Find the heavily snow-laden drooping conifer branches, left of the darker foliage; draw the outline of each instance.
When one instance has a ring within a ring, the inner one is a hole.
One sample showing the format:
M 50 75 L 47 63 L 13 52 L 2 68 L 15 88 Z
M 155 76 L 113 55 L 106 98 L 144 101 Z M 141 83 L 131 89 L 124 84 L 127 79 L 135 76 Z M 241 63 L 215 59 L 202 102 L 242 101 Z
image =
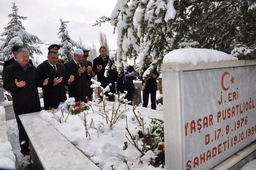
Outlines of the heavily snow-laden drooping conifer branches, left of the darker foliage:
M 138 54 L 141 54 L 141 76 L 147 56 L 153 55 L 155 58 L 144 73 L 144 78 L 162 64 L 170 48 L 170 20 L 174 19 L 175 14 L 173 0 L 118 0 L 111 14 L 111 24 L 118 32 L 116 66 L 119 72 L 128 65 L 127 57 L 136 60 Z M 147 46 L 140 51 L 142 42 L 146 42 Z

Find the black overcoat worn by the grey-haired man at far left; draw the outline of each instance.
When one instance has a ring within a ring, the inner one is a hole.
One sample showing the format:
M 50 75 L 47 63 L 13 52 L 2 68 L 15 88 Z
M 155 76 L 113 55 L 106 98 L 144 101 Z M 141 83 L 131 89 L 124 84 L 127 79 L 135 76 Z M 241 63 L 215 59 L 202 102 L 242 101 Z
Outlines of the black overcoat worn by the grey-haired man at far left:
M 24 87 L 17 87 L 15 79 L 26 82 Z M 28 64 L 27 70 L 14 62 L 6 67 L 4 72 L 4 89 L 12 95 L 14 113 L 16 115 L 39 112 L 41 110 L 37 87 L 42 87 L 44 80 L 40 80 L 34 66 Z

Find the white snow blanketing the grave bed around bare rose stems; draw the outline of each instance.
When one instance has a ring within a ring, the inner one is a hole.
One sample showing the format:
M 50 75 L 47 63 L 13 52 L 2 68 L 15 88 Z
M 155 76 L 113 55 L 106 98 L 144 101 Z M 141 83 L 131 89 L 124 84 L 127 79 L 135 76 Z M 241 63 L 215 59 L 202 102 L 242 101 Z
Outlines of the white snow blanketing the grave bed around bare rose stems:
M 128 165 L 131 170 L 155 170 L 160 168 L 155 168 L 154 166 L 149 165 L 150 158 L 156 158 L 156 155 L 159 153 L 158 149 L 155 150 L 156 154 L 149 150 L 145 153 L 144 156 L 140 157 L 141 154 L 136 150 L 132 144 L 128 142 L 128 148 L 123 150 L 124 142 L 127 142 L 125 134 L 126 131 L 126 118 L 128 128 L 132 134 L 138 134 L 139 127 L 138 122 L 135 119 L 132 110 L 128 110 L 128 106 L 121 106 L 122 117 L 110 128 L 110 123 L 106 124 L 106 119 L 99 114 L 99 107 L 96 106 L 96 103 L 90 102 L 92 104 L 92 109 L 84 111 L 86 114 L 87 124 L 92 123 L 93 128 L 89 128 L 90 138 L 85 137 L 85 128 L 83 124 L 84 113 L 78 115 L 70 114 L 67 118 L 67 121 L 64 122 L 68 113 L 64 112 L 64 119 L 62 118 L 62 123 L 58 120 L 62 116 L 60 111 L 54 113 L 41 111 L 40 116 L 45 119 L 47 122 L 52 124 L 56 130 L 58 130 L 65 138 L 72 142 L 76 147 L 78 147 L 82 152 L 90 157 L 90 159 L 102 170 L 111 170 L 111 165 L 114 165 L 114 168 L 117 170 L 126 170 L 127 166 L 123 163 L 124 158 L 128 161 Z M 117 108 L 118 103 L 115 107 Z M 110 109 L 108 113 L 111 115 L 112 105 L 107 102 L 106 110 Z M 111 117 L 111 116 L 110 116 Z M 100 123 L 104 123 L 104 126 Z M 145 129 L 150 128 L 151 119 L 144 117 L 144 122 L 146 122 Z M 127 134 L 128 135 L 128 134 Z M 128 137 L 130 138 L 130 137 Z M 142 144 L 141 140 L 138 140 L 139 145 Z M 139 164 L 140 159 L 143 161 L 143 164 Z

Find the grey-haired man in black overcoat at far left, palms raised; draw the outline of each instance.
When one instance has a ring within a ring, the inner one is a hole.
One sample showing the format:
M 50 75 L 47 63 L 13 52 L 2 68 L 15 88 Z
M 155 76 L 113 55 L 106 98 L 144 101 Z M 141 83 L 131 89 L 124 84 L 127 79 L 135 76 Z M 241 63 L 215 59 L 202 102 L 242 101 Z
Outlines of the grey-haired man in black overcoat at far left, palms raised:
M 11 92 L 19 130 L 20 152 L 26 156 L 29 155 L 28 136 L 18 115 L 41 111 L 37 87 L 46 86 L 48 78 L 39 79 L 36 68 L 28 63 L 28 50 L 20 48 L 17 53 L 17 61 L 6 67 L 3 87 Z

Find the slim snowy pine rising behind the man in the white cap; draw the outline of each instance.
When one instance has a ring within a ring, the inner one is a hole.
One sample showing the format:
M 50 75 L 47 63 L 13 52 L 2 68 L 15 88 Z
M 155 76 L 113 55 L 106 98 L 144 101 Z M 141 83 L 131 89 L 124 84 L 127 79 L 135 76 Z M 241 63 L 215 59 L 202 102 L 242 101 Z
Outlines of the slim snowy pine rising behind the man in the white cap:
M 66 29 L 66 26 L 69 21 L 62 21 L 62 19 L 60 19 L 60 28 L 59 28 L 59 38 L 61 39 L 60 42 L 62 43 L 60 45 L 61 49 L 61 56 L 62 56 L 62 60 L 64 60 L 64 62 L 66 61 L 70 61 L 73 58 L 73 52 L 74 49 L 73 47 L 76 46 L 77 48 L 83 48 L 83 46 L 79 45 L 77 42 L 75 42 L 74 40 L 72 40 L 70 38 L 70 36 L 68 35 L 68 30 Z

